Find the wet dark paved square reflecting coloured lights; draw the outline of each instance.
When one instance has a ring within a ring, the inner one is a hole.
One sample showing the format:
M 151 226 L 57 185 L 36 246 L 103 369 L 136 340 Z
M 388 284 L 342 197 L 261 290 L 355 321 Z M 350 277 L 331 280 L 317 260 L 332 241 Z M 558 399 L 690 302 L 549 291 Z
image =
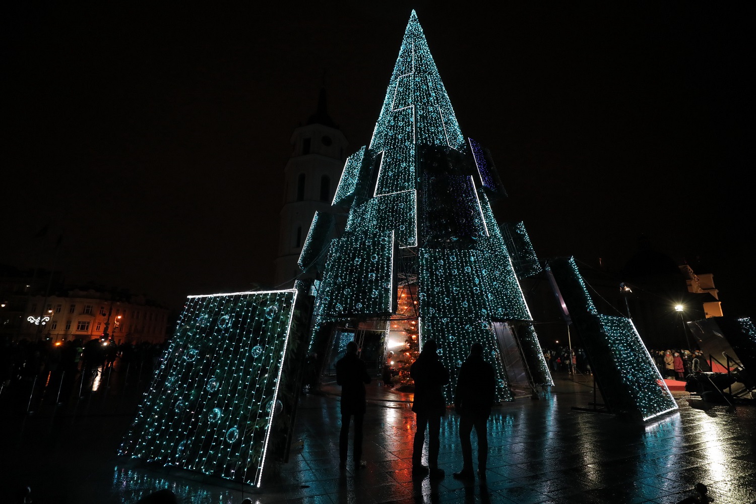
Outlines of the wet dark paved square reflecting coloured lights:
M 262 491 L 153 468 L 115 455 L 146 383 L 85 395 L 64 407 L 34 404 L 31 416 L 0 413 L 2 496 L 20 483 L 33 487 L 34 502 L 136 502 L 170 488 L 179 502 L 678 502 L 697 482 L 714 502 L 756 501 L 756 407 L 727 413 L 691 409 L 676 394 L 680 412 L 646 425 L 613 416 L 580 413 L 593 399 L 586 383 L 556 378 L 540 400 L 520 399 L 494 409 L 489 421 L 488 478 L 454 480 L 461 467 L 457 417 L 442 422 L 442 481 L 411 478 L 414 415 L 407 394 L 369 385 L 364 456 L 367 468 L 339 471 L 339 399 L 302 397 L 296 439 L 303 447 L 274 472 Z M 325 387 L 338 392 L 338 388 Z M 0 405 L 8 404 L 0 401 Z M 26 407 L 26 404 L 23 404 Z M 473 449 L 475 441 L 473 436 Z M 350 450 L 351 453 L 351 450 Z M 475 458 L 475 457 L 474 457 Z

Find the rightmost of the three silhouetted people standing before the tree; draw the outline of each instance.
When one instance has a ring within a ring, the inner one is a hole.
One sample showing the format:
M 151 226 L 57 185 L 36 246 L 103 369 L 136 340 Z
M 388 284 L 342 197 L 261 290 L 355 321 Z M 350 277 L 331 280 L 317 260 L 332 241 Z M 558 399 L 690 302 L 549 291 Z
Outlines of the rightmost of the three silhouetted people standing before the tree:
M 467 360 L 460 367 L 457 391 L 454 394 L 454 410 L 460 416 L 460 444 L 462 445 L 462 470 L 454 473 L 457 479 L 472 479 L 472 444 L 470 434 L 475 428 L 478 436 L 478 476 L 485 479 L 488 460 L 488 433 L 486 424 L 491 407 L 496 400 L 496 373 L 491 364 L 483 360 L 483 345 L 473 343 Z

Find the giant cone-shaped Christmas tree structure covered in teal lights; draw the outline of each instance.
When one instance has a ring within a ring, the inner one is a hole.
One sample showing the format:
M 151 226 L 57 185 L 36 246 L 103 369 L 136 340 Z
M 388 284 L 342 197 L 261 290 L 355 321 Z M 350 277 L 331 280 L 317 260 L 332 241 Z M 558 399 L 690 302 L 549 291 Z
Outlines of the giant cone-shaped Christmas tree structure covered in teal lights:
M 512 399 L 493 330 L 509 321 L 517 323 L 532 380 L 552 385 L 489 205 L 503 195 L 488 150 L 462 135 L 413 11 L 370 145 L 349 156 L 336 189 L 333 204 L 349 209 L 345 230 L 327 243 L 330 223 L 316 215 L 303 247 L 302 269 L 320 263 L 322 271 L 312 345 L 344 320 L 389 320 L 399 292 L 413 286 L 420 342 L 438 342 L 453 377 L 470 345 L 481 342 L 500 400 Z M 519 239 L 508 240 L 510 248 L 529 246 L 522 224 L 505 234 Z M 450 402 L 454 382 L 446 390 Z

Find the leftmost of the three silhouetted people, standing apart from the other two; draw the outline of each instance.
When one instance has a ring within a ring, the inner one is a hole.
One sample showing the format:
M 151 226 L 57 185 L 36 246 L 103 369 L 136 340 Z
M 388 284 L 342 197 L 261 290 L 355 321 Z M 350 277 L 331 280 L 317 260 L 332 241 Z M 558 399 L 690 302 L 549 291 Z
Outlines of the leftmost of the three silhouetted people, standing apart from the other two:
M 364 468 L 362 459 L 362 423 L 367 402 L 365 384 L 370 383 L 367 366 L 357 357 L 357 343 L 346 344 L 346 355 L 336 362 L 336 383 L 341 385 L 341 433 L 339 434 L 339 467 L 346 467 L 346 452 L 349 447 L 349 422 L 355 417 L 354 462 L 355 468 Z

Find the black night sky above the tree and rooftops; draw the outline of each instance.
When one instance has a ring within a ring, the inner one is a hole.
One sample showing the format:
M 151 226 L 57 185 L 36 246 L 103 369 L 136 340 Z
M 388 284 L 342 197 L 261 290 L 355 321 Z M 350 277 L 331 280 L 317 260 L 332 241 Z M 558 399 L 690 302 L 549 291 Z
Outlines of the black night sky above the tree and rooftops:
M 0 263 L 51 267 L 62 234 L 72 283 L 172 306 L 269 286 L 293 128 L 325 82 L 351 150 L 367 144 L 416 8 L 463 134 L 510 193 L 497 218 L 524 220 L 543 257 L 610 267 L 645 233 L 700 258 L 725 314 L 754 314 L 745 8 L 17 3 Z

